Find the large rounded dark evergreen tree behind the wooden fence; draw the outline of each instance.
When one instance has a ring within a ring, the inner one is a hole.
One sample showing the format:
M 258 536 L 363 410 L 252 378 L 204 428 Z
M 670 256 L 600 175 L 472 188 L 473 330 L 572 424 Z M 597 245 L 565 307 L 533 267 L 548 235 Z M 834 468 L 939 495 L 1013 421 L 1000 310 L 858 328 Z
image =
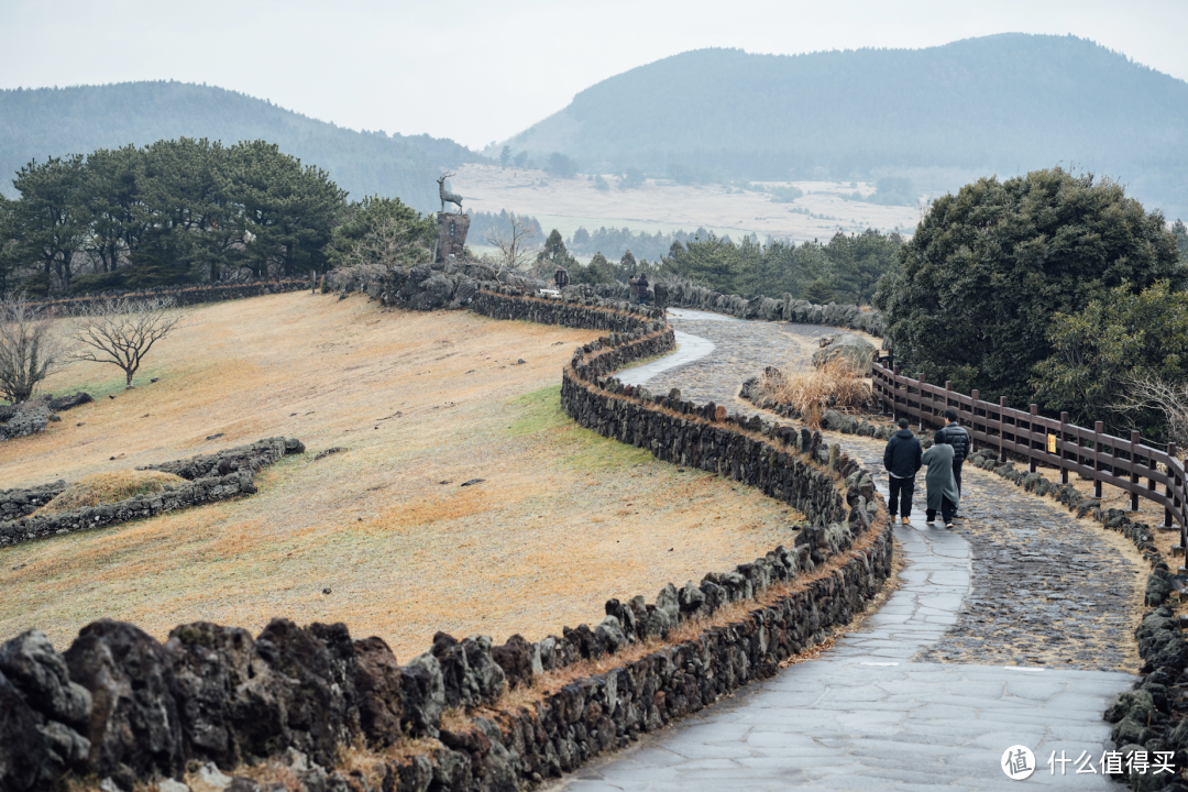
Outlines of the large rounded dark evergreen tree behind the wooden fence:
M 1106 290 L 1177 272 L 1175 237 L 1108 179 L 1061 169 L 982 178 L 933 203 L 876 294 L 906 370 L 984 399 L 1034 400 L 1049 325 Z

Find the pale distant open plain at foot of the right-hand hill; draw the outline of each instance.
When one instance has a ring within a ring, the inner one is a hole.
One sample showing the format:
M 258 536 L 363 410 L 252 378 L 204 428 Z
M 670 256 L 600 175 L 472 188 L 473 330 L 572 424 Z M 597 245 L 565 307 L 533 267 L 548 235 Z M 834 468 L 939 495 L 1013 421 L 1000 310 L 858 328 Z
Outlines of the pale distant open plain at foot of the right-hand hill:
M 647 179 L 639 189 L 620 190 L 618 177 L 605 178 L 609 190 L 594 189 L 584 175 L 564 179 L 536 170 L 463 165 L 451 184 L 466 196 L 468 209 L 536 215 L 545 234 L 555 227 L 567 237 L 579 226 L 586 226 L 587 230 L 626 226 L 649 233 L 704 227 L 734 236 L 756 233 L 760 239 L 771 235 L 805 241 L 828 240 L 839 228 L 847 233 L 866 228 L 884 232 L 901 228 L 910 233 L 920 221 L 916 207 L 880 207 L 841 197 L 855 190 L 862 195 L 873 192 L 873 185 L 862 182 L 854 186 L 849 182 L 765 183 L 795 184 L 804 192 L 792 203 L 772 203 L 770 194 L 739 188 L 658 184 Z M 801 214 L 802 210 L 810 214 Z

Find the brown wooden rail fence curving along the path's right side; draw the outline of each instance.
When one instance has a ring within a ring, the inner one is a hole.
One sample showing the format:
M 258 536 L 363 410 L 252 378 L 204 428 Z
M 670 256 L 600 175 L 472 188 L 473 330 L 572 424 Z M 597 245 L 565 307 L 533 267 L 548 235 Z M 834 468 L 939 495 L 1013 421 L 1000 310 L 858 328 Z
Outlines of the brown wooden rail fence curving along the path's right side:
M 1163 525 L 1180 525 L 1176 550 L 1188 546 L 1184 463 L 1174 443 L 1162 451 L 1143 445 L 1138 432 L 1129 439 L 1107 435 L 1100 420 L 1085 429 L 1068 423 L 1067 412 L 1057 420 L 1037 414 L 1037 405 L 1023 411 L 1007 407 L 1005 398 L 998 404 L 982 401 L 978 391 L 965 395 L 953 391 L 950 382 L 942 387 L 928 384 L 922 374 L 904 376 L 890 356 L 874 361 L 871 379 L 874 395 L 897 419 L 910 416 L 923 429 L 943 424 L 944 411 L 955 410 L 974 448 L 996 448 L 1003 462 L 1007 452 L 1015 452 L 1028 460 L 1031 473 L 1038 464 L 1059 468 L 1061 483 L 1068 483 L 1069 474 L 1081 474 L 1093 480 L 1095 498 L 1101 498 L 1101 484 L 1113 484 L 1130 493 L 1131 511 L 1138 508 L 1139 498 L 1159 503 Z

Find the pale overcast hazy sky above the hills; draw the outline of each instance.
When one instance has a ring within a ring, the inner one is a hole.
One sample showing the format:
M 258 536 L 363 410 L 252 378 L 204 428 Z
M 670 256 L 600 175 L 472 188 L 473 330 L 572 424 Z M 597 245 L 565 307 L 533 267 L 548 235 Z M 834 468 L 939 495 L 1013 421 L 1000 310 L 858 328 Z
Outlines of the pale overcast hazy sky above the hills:
M 204 82 L 340 126 L 480 148 L 606 77 L 707 46 L 1073 33 L 1188 80 L 1186 30 L 1184 0 L 0 0 L 0 88 Z

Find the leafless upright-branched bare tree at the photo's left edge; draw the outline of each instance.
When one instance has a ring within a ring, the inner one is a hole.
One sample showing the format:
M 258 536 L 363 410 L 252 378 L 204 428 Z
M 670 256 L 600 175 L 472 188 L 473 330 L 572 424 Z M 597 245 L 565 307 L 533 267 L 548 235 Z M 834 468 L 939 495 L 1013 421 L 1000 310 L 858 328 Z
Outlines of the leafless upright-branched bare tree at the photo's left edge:
M 25 401 L 63 357 L 52 311 L 23 296 L 0 300 L 0 395 Z

